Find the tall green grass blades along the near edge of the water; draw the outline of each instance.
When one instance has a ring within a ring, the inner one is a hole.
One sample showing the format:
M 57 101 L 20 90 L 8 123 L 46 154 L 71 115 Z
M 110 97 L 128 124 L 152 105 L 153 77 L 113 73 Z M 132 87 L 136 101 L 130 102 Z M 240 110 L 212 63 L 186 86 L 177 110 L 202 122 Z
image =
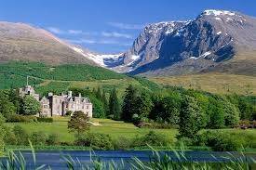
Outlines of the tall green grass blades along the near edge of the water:
M 248 159 L 246 155 L 241 152 L 240 157 L 236 157 L 233 153 L 228 153 L 228 157 L 224 158 L 224 162 L 218 162 L 216 158 L 216 162 L 208 163 L 208 162 L 194 162 L 191 161 L 187 156 L 185 151 L 183 150 L 169 150 L 173 151 L 174 157 L 170 156 L 168 152 L 161 152 L 152 149 L 152 156 L 149 161 L 143 162 L 138 158 L 132 158 L 130 161 L 110 161 L 103 162 L 101 158 L 95 155 L 93 151 L 91 151 L 90 161 L 91 163 L 82 163 L 78 159 L 74 159 L 71 156 L 63 156 L 62 159 L 65 163 L 65 166 L 69 170 L 211 170 L 211 169 L 224 169 L 224 170 L 250 170 L 253 169 L 253 165 L 255 168 L 256 161 L 254 159 Z M 41 170 L 41 169 L 51 169 L 51 167 L 46 164 L 36 165 L 36 157 L 34 148 L 31 145 L 32 155 L 34 164 L 30 164 L 29 169 Z M 213 159 L 214 156 L 212 156 Z M 21 152 L 15 153 L 13 151 L 9 151 L 7 154 L 7 159 L 0 163 L 0 169 L 5 170 L 25 170 L 28 169 L 28 164 L 24 159 Z

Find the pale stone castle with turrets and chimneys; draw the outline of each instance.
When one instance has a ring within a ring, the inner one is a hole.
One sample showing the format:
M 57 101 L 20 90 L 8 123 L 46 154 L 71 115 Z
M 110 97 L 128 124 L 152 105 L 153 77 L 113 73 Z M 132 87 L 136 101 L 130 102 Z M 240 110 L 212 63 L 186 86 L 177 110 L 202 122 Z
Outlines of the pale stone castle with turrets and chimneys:
M 68 94 L 61 94 L 61 96 L 48 93 L 47 97 L 40 98 L 39 94 L 35 94 L 34 87 L 27 85 L 20 88 L 20 96 L 30 95 L 34 97 L 41 104 L 40 116 L 64 116 L 67 111 L 83 111 L 88 114 L 88 117 L 92 117 L 92 103 L 89 98 L 72 96 L 72 91 Z

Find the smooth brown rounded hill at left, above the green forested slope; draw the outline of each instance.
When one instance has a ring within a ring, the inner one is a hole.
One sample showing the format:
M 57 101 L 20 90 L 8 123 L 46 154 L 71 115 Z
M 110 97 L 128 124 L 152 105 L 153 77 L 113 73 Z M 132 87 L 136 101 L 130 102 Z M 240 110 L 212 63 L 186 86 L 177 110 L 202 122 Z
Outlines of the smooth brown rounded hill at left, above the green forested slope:
M 47 64 L 88 63 L 98 65 L 81 55 L 77 47 L 51 33 L 24 23 L 0 22 L 0 62 L 26 60 Z

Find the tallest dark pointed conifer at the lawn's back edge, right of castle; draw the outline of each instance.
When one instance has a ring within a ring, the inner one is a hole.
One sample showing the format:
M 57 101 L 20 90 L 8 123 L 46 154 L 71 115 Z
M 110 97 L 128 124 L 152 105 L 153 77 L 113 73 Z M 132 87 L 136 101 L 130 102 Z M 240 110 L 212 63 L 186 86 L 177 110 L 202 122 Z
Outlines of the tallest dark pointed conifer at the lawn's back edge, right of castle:
M 122 106 L 122 119 L 126 122 L 131 122 L 134 109 L 136 108 L 137 91 L 129 85 L 125 92 L 124 102 Z

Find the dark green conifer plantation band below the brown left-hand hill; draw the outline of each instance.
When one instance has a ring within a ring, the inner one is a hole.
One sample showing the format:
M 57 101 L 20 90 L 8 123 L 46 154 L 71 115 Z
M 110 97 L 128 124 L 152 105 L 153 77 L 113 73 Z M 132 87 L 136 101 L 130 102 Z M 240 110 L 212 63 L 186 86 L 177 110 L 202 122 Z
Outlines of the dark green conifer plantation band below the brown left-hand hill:
M 125 74 L 112 72 L 87 64 L 49 66 L 37 62 L 7 62 L 0 64 L 0 89 L 25 85 L 26 76 L 37 85 L 42 80 L 88 81 L 126 78 Z

